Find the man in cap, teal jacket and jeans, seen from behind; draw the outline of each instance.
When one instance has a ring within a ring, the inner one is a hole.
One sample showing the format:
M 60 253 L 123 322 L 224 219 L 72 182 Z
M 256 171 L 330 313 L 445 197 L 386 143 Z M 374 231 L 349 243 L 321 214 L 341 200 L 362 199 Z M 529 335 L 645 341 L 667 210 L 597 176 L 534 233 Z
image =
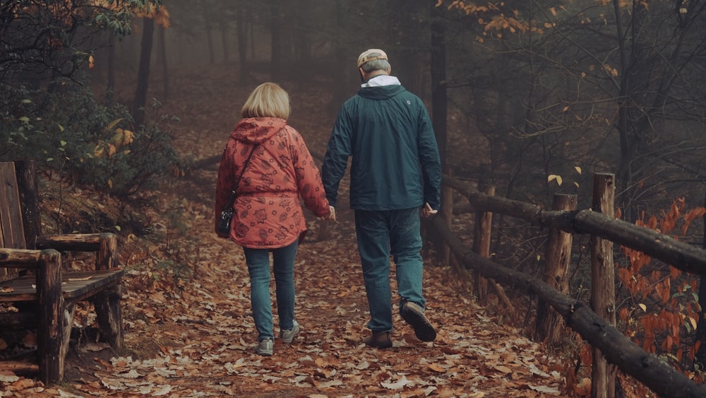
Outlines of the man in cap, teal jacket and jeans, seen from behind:
M 358 57 L 361 89 L 340 110 L 322 166 L 326 198 L 335 206 L 338 185 L 350 169 L 350 204 L 370 309 L 364 339 L 393 345 L 390 254 L 395 261 L 400 315 L 421 341 L 436 339 L 424 315 L 419 212 L 436 213 L 441 161 L 424 103 L 390 76 L 388 56 L 369 49 Z

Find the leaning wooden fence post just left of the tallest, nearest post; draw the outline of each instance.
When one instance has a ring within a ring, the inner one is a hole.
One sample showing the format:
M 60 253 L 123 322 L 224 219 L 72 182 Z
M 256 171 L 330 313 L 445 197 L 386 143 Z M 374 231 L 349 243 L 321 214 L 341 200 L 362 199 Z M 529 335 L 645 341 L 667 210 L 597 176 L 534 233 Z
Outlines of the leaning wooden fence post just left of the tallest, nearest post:
M 575 210 L 576 195 L 555 194 L 553 210 Z M 558 228 L 549 230 L 549 242 L 546 247 L 546 270 L 544 282 L 556 288 L 561 293 L 569 293 L 568 267 L 571 262 L 571 243 L 573 235 L 563 232 Z M 537 303 L 537 322 L 534 326 L 535 341 L 551 343 L 561 339 L 561 316 L 547 304 L 539 299 Z

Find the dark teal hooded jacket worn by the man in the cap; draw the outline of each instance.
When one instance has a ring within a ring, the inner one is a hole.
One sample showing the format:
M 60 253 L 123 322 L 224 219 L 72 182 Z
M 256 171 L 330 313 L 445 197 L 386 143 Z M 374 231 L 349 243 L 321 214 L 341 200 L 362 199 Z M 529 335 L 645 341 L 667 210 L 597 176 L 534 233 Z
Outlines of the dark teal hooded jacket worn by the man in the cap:
M 424 103 L 400 85 L 365 87 L 336 119 L 321 168 L 335 206 L 348 157 L 351 209 L 439 208 L 441 161 Z

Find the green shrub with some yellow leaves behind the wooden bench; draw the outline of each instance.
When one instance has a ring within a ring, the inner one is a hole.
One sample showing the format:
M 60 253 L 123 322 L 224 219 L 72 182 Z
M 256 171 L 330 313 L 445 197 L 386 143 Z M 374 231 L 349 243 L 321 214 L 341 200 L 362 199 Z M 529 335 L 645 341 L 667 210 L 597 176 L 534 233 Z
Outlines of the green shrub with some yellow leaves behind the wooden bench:
M 157 115 L 132 130 L 124 105 L 97 103 L 75 83 L 47 93 L 4 86 L 0 93 L 0 160 L 34 158 L 73 182 L 126 198 L 157 186 L 179 164 L 172 137 L 162 129 L 178 122 Z

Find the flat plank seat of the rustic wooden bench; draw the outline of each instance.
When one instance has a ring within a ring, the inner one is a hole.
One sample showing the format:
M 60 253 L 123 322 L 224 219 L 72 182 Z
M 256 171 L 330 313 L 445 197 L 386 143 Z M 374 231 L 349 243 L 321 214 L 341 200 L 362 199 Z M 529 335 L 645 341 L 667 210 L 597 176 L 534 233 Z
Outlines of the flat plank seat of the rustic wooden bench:
M 95 294 L 117 283 L 125 274 L 122 269 L 102 271 L 64 272 L 61 278 L 61 295 L 64 300 L 76 300 L 88 293 Z M 88 278 L 88 279 L 86 279 Z M 35 276 L 22 276 L 0 283 L 0 302 L 37 300 Z

